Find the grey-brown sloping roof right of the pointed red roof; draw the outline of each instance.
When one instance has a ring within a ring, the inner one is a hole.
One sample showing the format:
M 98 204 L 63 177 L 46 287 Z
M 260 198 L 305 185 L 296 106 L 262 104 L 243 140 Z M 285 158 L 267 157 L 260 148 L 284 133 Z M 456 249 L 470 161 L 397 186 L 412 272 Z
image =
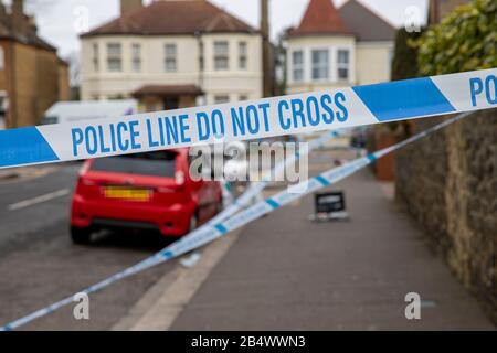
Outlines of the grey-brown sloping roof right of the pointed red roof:
M 393 41 L 395 28 L 359 0 L 348 0 L 338 9 L 359 41 Z

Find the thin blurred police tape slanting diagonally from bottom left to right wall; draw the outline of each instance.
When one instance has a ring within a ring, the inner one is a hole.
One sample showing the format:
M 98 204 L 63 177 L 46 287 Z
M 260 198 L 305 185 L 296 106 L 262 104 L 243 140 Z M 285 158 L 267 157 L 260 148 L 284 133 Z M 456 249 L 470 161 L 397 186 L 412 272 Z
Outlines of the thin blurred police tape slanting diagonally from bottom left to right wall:
M 306 183 L 306 191 L 304 193 L 296 193 L 296 192 L 292 191 L 292 188 L 299 188 L 302 183 L 297 184 L 297 185 L 293 185 L 288 190 L 279 192 L 272 197 L 268 197 L 262 202 L 258 202 L 255 205 L 250 206 L 248 208 L 233 215 L 232 217 L 230 217 L 225 221 L 199 228 L 198 229 L 199 232 L 195 233 L 197 235 L 193 240 L 192 240 L 192 237 L 187 236 L 186 238 L 183 238 L 183 240 L 177 242 L 177 243 L 166 247 L 161 252 L 146 258 L 145 260 L 142 260 L 131 267 L 128 267 L 125 270 L 117 272 L 117 274 L 115 274 L 91 287 L 83 289 L 81 292 L 84 292 L 87 295 L 89 295 L 92 292 L 96 292 L 120 279 L 124 279 L 131 275 L 144 271 L 144 270 L 146 270 L 152 266 L 159 265 L 161 263 L 173 259 L 173 258 L 181 256 L 193 249 L 200 248 L 200 247 L 207 245 L 208 243 L 226 235 L 229 232 L 240 228 L 240 227 L 244 226 L 245 224 L 262 217 L 265 214 L 268 214 L 268 213 L 299 199 L 299 197 L 303 197 L 304 195 L 315 192 L 321 188 L 329 186 L 329 185 L 353 174 L 355 172 L 367 167 L 368 164 L 372 163 L 377 159 L 379 159 L 388 153 L 391 153 L 398 149 L 401 149 L 412 142 L 415 142 L 435 131 L 438 131 L 438 130 L 443 129 L 444 127 L 446 127 L 451 124 L 454 124 L 455 121 L 466 118 L 470 114 L 472 113 L 465 113 L 465 114 L 458 115 L 456 117 L 453 117 L 451 119 L 447 119 L 438 125 L 435 125 L 435 126 L 404 140 L 404 141 L 401 141 L 391 147 L 381 149 L 381 150 L 370 153 L 366 157 L 350 161 L 341 167 L 328 170 L 315 178 L 311 178 L 308 181 L 304 181 L 303 183 Z M 10 330 L 18 329 L 38 318 L 44 317 L 49 313 L 54 312 L 55 310 L 57 310 L 62 307 L 65 307 L 65 306 L 72 303 L 73 299 L 74 299 L 74 296 L 71 296 L 63 300 L 60 300 L 49 307 L 40 309 L 31 314 L 28 314 L 21 319 L 18 319 L 18 320 L 12 321 L 3 327 L 0 327 L 0 331 L 10 331 Z

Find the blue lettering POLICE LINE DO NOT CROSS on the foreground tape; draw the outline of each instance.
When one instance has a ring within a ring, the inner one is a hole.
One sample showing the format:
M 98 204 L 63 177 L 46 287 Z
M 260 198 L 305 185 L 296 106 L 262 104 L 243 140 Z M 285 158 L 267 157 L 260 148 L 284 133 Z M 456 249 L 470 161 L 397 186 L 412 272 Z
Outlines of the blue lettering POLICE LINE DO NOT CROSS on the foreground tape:
M 339 92 L 334 97 L 322 94 L 319 98 L 293 98 L 277 103 L 277 117 L 282 130 L 305 128 L 320 124 L 331 125 L 335 119 L 343 122 L 348 111 L 345 107 L 345 95 Z M 233 138 L 256 138 L 271 132 L 269 103 L 247 104 L 225 109 L 197 111 L 193 115 L 197 141 L 212 141 L 225 136 L 226 125 L 231 126 Z M 225 113 L 229 113 L 228 117 Z M 191 119 L 188 114 L 175 115 L 175 111 L 163 116 L 145 118 L 146 138 L 140 138 L 140 120 L 110 122 L 107 125 L 73 128 L 73 156 L 78 157 L 83 150 L 89 156 L 128 152 L 129 150 L 165 148 L 175 145 L 191 143 Z M 226 120 L 230 120 L 229 124 Z

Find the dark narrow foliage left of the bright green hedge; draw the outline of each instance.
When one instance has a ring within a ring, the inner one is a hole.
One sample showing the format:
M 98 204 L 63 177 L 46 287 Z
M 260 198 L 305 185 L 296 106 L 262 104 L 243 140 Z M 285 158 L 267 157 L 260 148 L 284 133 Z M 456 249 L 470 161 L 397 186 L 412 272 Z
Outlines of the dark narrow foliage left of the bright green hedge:
M 395 33 L 395 51 L 392 62 L 392 79 L 413 78 L 417 73 L 417 47 L 412 43 L 421 38 L 422 32 L 409 33 L 400 29 Z

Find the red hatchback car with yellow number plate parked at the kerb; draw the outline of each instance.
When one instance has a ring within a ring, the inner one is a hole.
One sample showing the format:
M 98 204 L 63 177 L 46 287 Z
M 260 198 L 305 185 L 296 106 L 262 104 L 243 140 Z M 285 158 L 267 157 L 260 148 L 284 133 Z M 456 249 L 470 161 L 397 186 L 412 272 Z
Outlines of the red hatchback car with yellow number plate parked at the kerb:
M 193 181 L 189 161 L 188 149 L 87 160 L 73 195 L 73 242 L 114 227 L 182 236 L 209 221 L 222 207 L 221 186 Z

